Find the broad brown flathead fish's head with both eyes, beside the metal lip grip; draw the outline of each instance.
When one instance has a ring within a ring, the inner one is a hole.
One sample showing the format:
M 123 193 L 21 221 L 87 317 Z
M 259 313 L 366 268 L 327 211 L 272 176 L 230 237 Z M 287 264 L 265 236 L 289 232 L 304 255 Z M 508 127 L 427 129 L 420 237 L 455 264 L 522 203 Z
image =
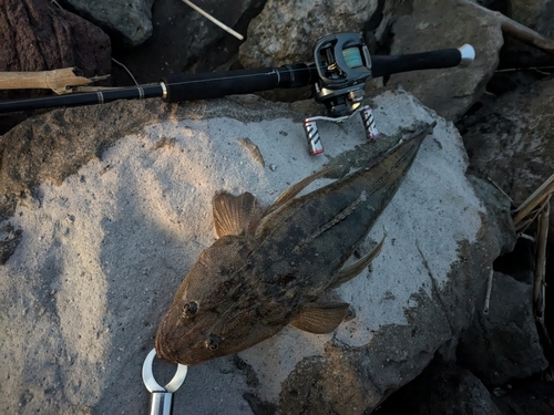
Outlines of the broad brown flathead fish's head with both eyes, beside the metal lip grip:
M 237 353 L 268 333 L 245 290 L 249 255 L 244 238 L 225 236 L 205 249 L 185 277 L 155 340 L 167 363 L 197 364 Z

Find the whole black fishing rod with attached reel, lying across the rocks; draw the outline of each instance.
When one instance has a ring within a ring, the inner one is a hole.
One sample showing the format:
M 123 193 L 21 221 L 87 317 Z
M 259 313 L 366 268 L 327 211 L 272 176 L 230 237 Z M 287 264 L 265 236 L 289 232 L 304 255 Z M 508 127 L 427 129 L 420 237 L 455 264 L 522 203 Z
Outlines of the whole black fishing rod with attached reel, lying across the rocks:
M 368 138 L 379 135 L 371 108 L 361 104 L 367 80 L 400 72 L 468 66 L 474 58 L 475 51 L 470 44 L 406 55 L 371 56 L 359 33 L 334 33 L 317 41 L 312 63 L 201 74 L 179 73 L 165 76 L 157 84 L 4 101 L 0 102 L 0 114 L 152 97 L 176 103 L 314 85 L 314 97 L 326 105 L 328 114 L 306 118 L 304 123 L 309 153 L 315 155 L 324 152 L 317 121 L 342 122 L 359 112 Z

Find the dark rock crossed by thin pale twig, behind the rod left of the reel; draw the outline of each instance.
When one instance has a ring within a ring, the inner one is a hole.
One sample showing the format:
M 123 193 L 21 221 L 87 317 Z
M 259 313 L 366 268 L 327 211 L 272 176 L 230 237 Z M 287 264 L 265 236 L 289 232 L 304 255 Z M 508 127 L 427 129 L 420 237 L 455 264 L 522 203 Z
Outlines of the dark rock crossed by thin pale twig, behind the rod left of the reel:
M 264 0 L 196 2 L 216 19 L 236 28 L 248 13 L 259 12 Z M 152 9 L 153 33 L 134 50 L 116 51 L 116 58 L 133 73 L 138 83 L 157 82 L 161 77 L 186 72 L 211 72 L 232 60 L 240 41 L 201 15 L 187 4 L 174 0 L 157 0 Z M 246 25 L 246 22 L 242 23 Z M 192 68 L 195 66 L 195 68 Z M 119 83 L 131 83 L 123 70 L 114 66 Z

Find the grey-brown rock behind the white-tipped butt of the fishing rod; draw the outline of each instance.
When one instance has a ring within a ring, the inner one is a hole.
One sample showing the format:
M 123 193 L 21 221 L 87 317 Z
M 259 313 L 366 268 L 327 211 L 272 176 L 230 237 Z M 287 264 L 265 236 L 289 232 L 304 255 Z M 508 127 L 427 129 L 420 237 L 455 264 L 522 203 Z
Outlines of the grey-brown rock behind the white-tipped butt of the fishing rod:
M 389 87 L 412 93 L 448 120 L 460 118 L 483 94 L 499 64 L 503 44 L 499 22 L 471 6 L 442 0 L 414 0 L 412 9 L 392 25 L 391 54 L 418 53 L 470 43 L 470 68 L 416 71 L 391 76 Z

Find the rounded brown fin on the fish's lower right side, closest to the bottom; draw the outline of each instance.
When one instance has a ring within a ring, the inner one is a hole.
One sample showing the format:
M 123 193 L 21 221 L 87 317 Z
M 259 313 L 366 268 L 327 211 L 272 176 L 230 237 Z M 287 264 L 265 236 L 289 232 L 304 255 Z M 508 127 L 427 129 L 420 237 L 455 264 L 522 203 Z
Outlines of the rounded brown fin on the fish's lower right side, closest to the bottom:
M 345 320 L 349 307 L 345 302 L 309 303 L 290 324 L 314 334 L 330 333 Z

